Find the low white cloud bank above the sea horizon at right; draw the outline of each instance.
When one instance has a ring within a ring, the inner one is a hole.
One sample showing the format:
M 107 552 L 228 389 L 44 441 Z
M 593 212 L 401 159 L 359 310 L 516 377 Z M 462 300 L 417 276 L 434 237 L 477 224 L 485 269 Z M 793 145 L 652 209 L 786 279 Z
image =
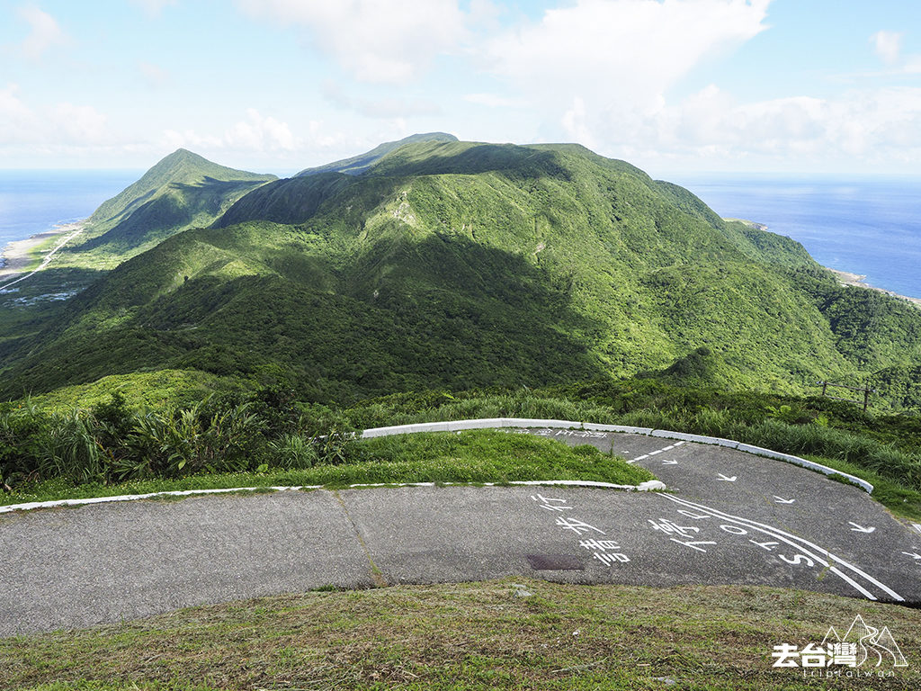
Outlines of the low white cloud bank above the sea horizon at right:
M 787 170 L 846 161 L 857 170 L 862 163 L 880 167 L 921 158 L 921 88 L 740 103 L 711 85 L 647 123 L 605 133 L 606 145 L 627 158 L 661 159 L 669 152 L 703 168 L 733 160 Z

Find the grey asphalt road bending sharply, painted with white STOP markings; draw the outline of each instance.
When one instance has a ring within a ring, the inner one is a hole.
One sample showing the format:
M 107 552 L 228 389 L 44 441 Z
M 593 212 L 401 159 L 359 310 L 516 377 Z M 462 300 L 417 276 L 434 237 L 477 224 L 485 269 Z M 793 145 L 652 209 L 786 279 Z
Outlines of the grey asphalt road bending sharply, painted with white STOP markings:
M 613 451 L 671 491 L 407 486 L 6 513 L 0 636 L 322 586 L 517 576 L 921 602 L 921 525 L 857 486 L 692 441 L 508 431 Z

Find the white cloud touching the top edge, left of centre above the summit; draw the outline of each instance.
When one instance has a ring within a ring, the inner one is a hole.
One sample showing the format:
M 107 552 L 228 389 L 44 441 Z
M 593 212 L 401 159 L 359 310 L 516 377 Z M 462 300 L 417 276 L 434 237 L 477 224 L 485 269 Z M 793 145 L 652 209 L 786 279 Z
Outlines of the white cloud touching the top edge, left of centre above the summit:
M 369 82 L 404 82 L 464 40 L 457 0 L 238 0 L 251 16 L 308 29 L 310 44 Z M 486 5 L 476 3 L 483 13 Z

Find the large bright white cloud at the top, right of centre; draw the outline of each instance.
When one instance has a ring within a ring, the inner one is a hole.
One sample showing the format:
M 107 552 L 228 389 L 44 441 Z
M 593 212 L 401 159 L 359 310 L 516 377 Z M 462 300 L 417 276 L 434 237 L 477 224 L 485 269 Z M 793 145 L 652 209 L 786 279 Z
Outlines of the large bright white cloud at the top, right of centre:
M 589 118 L 624 104 L 645 111 L 706 55 L 764 30 L 769 2 L 577 0 L 495 36 L 481 59 L 534 100 L 584 100 Z

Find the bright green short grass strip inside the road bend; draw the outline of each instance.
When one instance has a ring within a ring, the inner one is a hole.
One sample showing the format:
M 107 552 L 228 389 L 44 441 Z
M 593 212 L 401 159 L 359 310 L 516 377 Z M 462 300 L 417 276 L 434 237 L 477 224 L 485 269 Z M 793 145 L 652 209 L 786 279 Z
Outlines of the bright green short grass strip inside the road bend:
M 73 485 L 58 477 L 0 496 L 0 505 L 114 497 L 181 489 L 363 483 L 505 483 L 513 480 L 594 480 L 637 485 L 655 476 L 594 447 L 494 430 L 400 435 L 349 444 L 340 463 L 262 473 L 196 474 L 113 485 Z

